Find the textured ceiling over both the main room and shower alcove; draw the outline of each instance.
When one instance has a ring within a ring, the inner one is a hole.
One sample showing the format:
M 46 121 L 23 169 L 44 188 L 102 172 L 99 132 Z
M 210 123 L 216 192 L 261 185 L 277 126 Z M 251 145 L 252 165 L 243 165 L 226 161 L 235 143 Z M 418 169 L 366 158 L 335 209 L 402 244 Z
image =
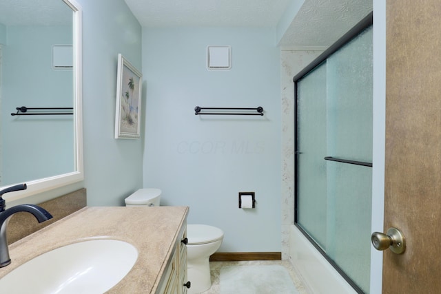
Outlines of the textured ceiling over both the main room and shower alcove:
M 269 27 L 292 1 L 125 0 L 143 27 Z M 305 0 L 278 45 L 329 46 L 372 11 L 372 0 Z

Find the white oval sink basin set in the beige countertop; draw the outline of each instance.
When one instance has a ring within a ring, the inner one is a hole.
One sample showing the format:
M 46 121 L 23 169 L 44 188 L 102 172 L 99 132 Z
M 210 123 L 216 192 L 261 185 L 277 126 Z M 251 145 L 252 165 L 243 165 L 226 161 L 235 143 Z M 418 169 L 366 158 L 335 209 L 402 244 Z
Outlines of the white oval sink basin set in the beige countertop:
M 129 273 L 137 258 L 136 248 L 123 241 L 74 243 L 21 264 L 1 278 L 0 289 L 1 293 L 104 293 Z

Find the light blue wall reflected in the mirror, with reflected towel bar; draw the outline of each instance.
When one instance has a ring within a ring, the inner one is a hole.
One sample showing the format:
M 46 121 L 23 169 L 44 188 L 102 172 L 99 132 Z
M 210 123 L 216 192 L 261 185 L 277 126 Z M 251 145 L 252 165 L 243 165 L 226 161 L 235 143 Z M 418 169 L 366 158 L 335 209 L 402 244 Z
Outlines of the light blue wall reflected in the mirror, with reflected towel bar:
M 23 105 L 72 107 L 72 70 L 52 69 L 56 44 L 72 44 L 71 27 L 8 27 L 1 66 L 1 185 L 74 170 L 73 116 L 10 115 Z

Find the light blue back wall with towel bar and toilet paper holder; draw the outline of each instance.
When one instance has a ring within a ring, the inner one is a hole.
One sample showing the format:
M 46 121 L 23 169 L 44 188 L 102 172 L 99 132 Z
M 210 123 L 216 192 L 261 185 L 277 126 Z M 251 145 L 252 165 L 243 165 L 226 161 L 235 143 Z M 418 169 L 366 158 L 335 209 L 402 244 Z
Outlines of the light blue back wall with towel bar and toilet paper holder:
M 220 252 L 280 251 L 280 54 L 274 30 L 143 28 L 147 81 L 144 186 L 189 222 L 225 231 Z M 232 70 L 206 69 L 207 45 L 232 46 Z M 195 116 L 194 107 L 265 116 Z M 257 208 L 238 209 L 255 191 Z

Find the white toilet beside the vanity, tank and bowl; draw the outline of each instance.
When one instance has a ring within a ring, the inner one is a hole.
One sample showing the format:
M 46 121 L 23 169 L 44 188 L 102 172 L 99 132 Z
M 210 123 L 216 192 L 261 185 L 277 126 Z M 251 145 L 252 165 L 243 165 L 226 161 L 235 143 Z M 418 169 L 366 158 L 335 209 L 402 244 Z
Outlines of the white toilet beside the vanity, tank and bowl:
M 125 198 L 125 206 L 154 207 L 161 204 L 161 189 L 139 189 Z M 212 286 L 209 257 L 219 249 L 223 231 L 207 224 L 187 224 L 187 294 L 207 291 Z

